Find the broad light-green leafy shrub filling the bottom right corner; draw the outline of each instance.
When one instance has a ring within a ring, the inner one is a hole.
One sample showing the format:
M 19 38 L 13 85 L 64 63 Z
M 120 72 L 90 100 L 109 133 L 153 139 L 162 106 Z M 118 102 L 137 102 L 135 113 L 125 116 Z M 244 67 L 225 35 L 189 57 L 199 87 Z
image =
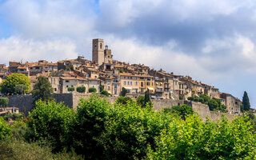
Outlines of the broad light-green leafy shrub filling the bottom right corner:
M 148 159 L 255 159 L 255 134 L 245 118 L 202 122 L 198 116 L 163 130 Z

